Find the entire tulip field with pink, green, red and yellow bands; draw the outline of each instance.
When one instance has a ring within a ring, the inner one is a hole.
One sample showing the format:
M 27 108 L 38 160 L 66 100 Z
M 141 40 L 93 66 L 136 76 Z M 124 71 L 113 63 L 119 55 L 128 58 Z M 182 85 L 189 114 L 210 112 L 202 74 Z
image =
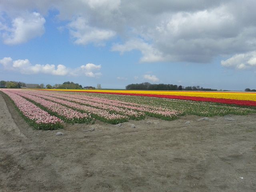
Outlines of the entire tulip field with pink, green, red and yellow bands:
M 146 116 L 174 120 L 181 115 L 214 116 L 256 112 L 256 94 L 242 92 L 60 91 L 1 89 L 36 129 L 65 123 L 110 124 Z M 102 94 L 104 93 L 104 94 Z

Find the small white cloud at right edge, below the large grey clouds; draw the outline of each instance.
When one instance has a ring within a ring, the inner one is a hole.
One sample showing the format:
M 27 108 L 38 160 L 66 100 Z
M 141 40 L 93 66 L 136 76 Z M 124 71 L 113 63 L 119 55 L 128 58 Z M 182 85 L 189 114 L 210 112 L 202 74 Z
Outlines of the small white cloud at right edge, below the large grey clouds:
M 235 69 L 256 69 L 256 52 L 236 54 L 227 60 L 222 60 L 221 65 Z

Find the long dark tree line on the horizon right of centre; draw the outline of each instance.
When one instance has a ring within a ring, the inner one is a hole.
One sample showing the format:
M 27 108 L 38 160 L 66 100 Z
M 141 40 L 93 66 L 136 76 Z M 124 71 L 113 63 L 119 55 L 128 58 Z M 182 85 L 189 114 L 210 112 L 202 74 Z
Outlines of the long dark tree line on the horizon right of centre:
M 203 88 L 200 86 L 178 86 L 173 84 L 151 84 L 149 82 L 129 84 L 125 87 L 127 90 L 172 90 L 172 91 L 217 91 L 217 89 Z

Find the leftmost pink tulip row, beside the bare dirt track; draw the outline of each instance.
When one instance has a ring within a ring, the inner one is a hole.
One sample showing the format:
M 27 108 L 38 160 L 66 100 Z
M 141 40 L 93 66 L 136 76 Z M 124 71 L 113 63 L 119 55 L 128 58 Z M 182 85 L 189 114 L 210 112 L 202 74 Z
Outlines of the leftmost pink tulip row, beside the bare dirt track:
M 18 110 L 27 118 L 28 121 L 35 126 L 35 128 L 45 128 L 48 126 L 49 129 L 60 128 L 62 120 L 56 116 L 50 115 L 48 112 L 40 109 L 38 106 L 24 99 L 23 97 L 10 92 L 8 90 L 2 89 L 2 92 L 7 94 L 11 100 L 14 102 Z

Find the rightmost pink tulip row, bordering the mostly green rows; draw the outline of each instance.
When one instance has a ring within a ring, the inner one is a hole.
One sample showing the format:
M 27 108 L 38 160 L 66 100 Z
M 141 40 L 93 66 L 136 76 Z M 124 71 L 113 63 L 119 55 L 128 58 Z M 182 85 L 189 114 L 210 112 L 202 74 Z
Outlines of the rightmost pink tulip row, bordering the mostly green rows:
M 41 94 L 41 92 L 39 91 Z M 138 110 L 140 112 L 147 113 L 148 115 L 152 116 L 163 116 L 166 118 L 175 118 L 178 115 L 182 114 L 182 111 L 177 110 L 169 110 L 161 107 L 154 107 L 154 106 L 148 106 L 148 105 L 140 105 L 130 102 L 122 102 L 118 100 L 110 100 L 110 99 L 104 99 L 104 98 L 96 98 L 96 97 L 90 97 L 90 96 L 84 96 L 84 95 L 77 95 L 77 94 L 67 94 L 67 93 L 56 93 L 56 92 L 43 92 L 43 94 L 46 94 L 48 96 L 62 96 L 66 98 L 72 98 L 73 99 L 79 99 L 79 100 L 85 100 L 86 102 L 96 102 L 96 103 L 102 103 L 109 106 L 115 106 L 119 108 L 126 108 L 131 110 Z

